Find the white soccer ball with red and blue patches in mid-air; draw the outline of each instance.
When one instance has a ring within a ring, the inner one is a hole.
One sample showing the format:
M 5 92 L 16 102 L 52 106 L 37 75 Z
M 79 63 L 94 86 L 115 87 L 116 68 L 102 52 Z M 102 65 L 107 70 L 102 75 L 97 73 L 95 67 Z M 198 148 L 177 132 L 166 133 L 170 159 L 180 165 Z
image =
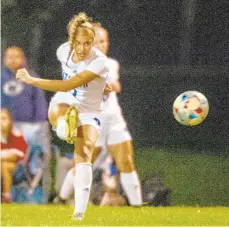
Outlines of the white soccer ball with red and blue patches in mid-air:
M 175 119 L 186 126 L 200 124 L 207 117 L 208 111 L 208 100 L 198 91 L 186 91 L 173 103 Z

